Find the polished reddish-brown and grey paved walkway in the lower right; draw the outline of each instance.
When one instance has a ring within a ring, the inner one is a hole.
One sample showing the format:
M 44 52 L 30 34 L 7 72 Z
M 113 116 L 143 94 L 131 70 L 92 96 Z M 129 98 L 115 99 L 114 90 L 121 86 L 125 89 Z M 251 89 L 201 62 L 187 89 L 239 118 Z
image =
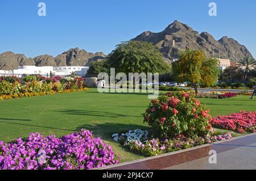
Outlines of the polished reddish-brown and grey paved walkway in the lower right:
M 209 163 L 209 151 L 216 150 L 217 163 Z M 139 161 L 120 163 L 110 170 L 256 169 L 256 133 L 215 144 Z

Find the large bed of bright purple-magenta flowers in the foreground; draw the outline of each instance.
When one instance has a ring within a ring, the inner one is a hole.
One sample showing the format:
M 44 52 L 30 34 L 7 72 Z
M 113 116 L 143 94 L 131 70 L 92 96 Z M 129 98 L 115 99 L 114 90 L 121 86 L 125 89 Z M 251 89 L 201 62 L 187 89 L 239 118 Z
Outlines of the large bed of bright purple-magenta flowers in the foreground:
M 115 163 L 112 148 L 83 129 L 61 138 L 31 133 L 26 140 L 0 142 L 0 170 L 93 169 Z

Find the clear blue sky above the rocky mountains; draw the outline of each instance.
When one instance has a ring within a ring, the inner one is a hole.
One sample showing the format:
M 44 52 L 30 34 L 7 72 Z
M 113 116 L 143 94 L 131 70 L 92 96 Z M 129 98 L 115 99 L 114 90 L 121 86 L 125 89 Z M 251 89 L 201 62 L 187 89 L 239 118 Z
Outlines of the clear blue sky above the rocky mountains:
M 46 3 L 45 17 L 38 3 Z M 217 3 L 217 16 L 208 15 Z M 57 56 L 69 48 L 111 52 L 143 31 L 179 20 L 215 39 L 233 37 L 256 57 L 256 1 L 232 0 L 0 0 L 0 53 Z

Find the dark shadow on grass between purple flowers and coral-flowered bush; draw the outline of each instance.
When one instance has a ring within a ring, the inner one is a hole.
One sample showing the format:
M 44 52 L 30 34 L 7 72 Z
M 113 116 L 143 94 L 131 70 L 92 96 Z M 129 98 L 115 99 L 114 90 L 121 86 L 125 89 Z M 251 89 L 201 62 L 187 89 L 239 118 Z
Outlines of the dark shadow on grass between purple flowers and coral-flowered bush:
M 79 125 L 76 131 L 81 129 L 88 129 L 92 131 L 94 136 L 101 137 L 107 141 L 113 141 L 111 135 L 114 133 L 125 133 L 133 129 L 143 129 L 146 130 L 148 127 L 137 124 L 122 124 L 122 123 L 102 123 L 102 124 L 84 124 Z

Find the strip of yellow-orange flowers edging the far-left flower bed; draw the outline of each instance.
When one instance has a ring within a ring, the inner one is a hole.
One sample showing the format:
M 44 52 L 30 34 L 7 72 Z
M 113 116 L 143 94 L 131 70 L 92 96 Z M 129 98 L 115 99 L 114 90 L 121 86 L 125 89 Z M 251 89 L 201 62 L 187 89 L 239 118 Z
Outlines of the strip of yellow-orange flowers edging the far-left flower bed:
M 13 94 L 13 95 L 2 95 L 0 96 L 0 100 L 6 100 L 6 99 L 16 99 L 16 98 L 28 98 L 32 96 L 40 96 L 40 95 L 53 95 L 53 94 L 61 94 L 61 93 L 70 93 L 70 92 L 76 92 L 76 91 L 87 91 L 88 88 L 84 87 L 79 90 L 63 90 L 63 91 L 48 91 L 48 92 L 26 92 L 26 93 L 19 93 L 19 94 Z

